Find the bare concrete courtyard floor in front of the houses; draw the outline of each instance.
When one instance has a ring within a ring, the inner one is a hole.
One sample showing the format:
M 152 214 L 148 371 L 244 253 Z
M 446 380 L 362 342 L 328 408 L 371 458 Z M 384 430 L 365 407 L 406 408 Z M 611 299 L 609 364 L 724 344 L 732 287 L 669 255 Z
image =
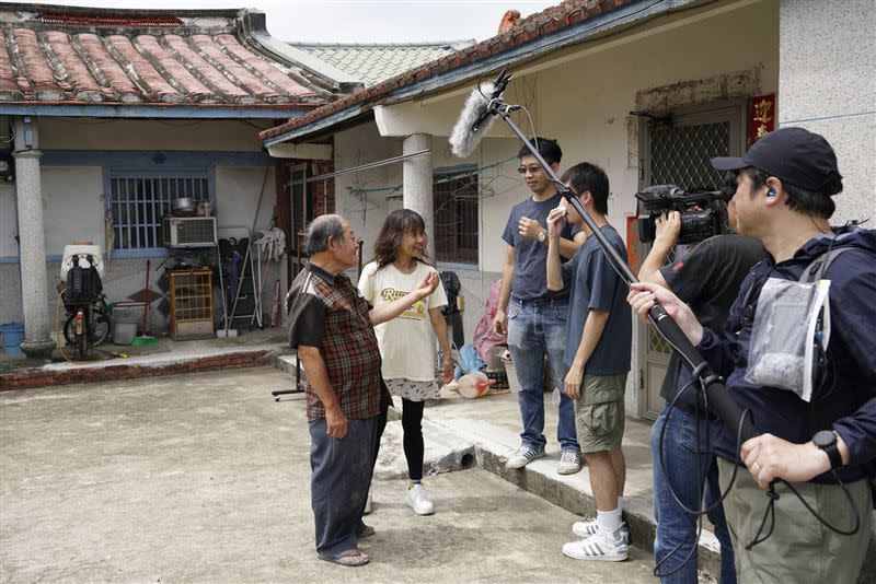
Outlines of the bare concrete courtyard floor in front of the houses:
M 0 582 L 655 582 L 560 552 L 576 516 L 482 469 L 413 515 L 374 482 L 360 569 L 315 558 L 303 397 L 268 367 L 0 394 Z

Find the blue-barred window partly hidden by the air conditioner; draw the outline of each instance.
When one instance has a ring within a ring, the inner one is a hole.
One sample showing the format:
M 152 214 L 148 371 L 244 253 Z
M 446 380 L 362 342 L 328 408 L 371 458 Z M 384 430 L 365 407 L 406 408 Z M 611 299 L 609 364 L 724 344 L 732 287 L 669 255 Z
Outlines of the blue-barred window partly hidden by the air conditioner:
M 171 213 L 175 199 L 208 198 L 205 174 L 118 175 L 110 178 L 107 208 L 113 213 L 115 249 L 149 249 L 162 246 L 161 218 Z

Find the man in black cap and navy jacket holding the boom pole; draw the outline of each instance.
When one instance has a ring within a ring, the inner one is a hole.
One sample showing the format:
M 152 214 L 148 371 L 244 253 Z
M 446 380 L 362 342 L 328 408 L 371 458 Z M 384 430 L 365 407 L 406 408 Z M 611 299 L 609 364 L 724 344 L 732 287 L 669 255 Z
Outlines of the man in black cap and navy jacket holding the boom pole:
M 855 582 L 872 519 L 864 465 L 876 459 L 876 232 L 856 225 L 832 230 L 828 224 L 834 210 L 831 197 L 842 190 L 842 177 L 833 149 L 821 136 L 782 128 L 744 157 L 714 159 L 712 164 L 737 172 L 735 230 L 760 240 L 770 260 L 742 282 L 723 336 L 703 328 L 664 288 L 635 284 L 629 301 L 641 316 L 655 300 L 662 304 L 715 372 L 726 377 L 728 392 L 762 432 L 741 445 L 739 456 L 748 472 L 739 469 L 724 502 L 739 581 Z M 815 357 L 806 358 L 814 369 L 810 396 L 800 387 L 805 382 L 799 369 L 785 370 L 797 381 L 780 388 L 780 382 L 763 383 L 761 373 L 749 366 L 749 360 L 756 363 L 752 347 L 770 338 L 770 327 L 758 323 L 786 300 L 768 292 L 791 290 L 802 279 L 829 280 L 825 309 L 792 309 L 769 324 L 773 329 L 789 325 L 788 330 L 807 330 L 805 315 L 820 314 L 815 332 L 802 337 L 804 346 L 821 348 L 820 355 L 814 350 Z M 736 430 L 721 429 L 714 442 L 725 490 L 739 452 Z M 761 489 L 774 479 L 792 483 L 806 504 L 785 482 L 774 484 L 777 499 L 765 497 Z

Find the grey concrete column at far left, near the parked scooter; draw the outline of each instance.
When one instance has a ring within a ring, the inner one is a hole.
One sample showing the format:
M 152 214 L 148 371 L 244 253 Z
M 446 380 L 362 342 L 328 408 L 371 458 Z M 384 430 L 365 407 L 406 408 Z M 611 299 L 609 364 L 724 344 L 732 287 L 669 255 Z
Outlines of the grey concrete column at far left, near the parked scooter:
M 43 186 L 36 126 L 31 118 L 15 120 L 15 196 L 19 208 L 19 258 L 24 312 L 21 350 L 32 359 L 48 359 L 55 349 L 49 331 L 46 237 L 43 230 Z

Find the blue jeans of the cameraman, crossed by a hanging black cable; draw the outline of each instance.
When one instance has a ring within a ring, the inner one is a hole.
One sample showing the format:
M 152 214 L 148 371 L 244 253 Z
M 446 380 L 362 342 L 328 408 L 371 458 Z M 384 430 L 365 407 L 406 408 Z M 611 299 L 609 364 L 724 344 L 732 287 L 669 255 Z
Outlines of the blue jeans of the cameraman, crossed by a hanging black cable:
M 654 538 L 654 560 L 659 563 L 676 547 L 681 546 L 672 556 L 664 561 L 658 574 L 666 574 L 678 570 L 675 574 L 662 577 L 662 584 L 696 584 L 696 550 L 690 560 L 679 569 L 681 562 L 691 552 L 696 544 L 696 517 L 689 515 L 669 492 L 660 466 L 660 432 L 666 424 L 666 436 L 662 442 L 666 471 L 671 481 L 672 491 L 685 507 L 700 509 L 698 470 L 706 476 L 705 506 L 711 506 L 721 498 L 718 484 L 718 468 L 715 457 L 705 453 L 706 423 L 699 421 L 700 442 L 698 445 L 696 417 L 692 413 L 676 408 L 672 416 L 668 417 L 669 404 L 664 406 L 650 430 L 650 456 L 654 465 L 654 516 L 657 519 L 657 533 Z M 667 424 L 668 420 L 668 424 Z M 699 458 L 699 468 L 698 468 Z M 724 507 L 719 506 L 708 513 L 708 521 L 715 526 L 715 537 L 721 544 L 721 582 L 733 584 L 736 582 L 736 568 L 734 567 L 734 551 L 730 542 L 730 533 L 727 521 L 724 518 Z M 687 541 L 684 539 L 687 538 Z M 682 544 L 683 541 L 683 544 Z

